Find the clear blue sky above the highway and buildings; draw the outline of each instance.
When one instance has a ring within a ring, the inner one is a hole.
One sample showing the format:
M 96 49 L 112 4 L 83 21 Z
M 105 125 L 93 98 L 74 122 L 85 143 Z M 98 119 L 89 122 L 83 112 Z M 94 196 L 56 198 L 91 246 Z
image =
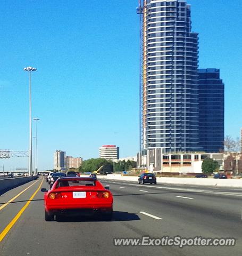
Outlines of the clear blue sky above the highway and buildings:
M 115 144 L 120 156 L 139 148 L 139 18 L 136 0 L 2 0 L 0 149 L 28 150 L 28 74 L 38 122 L 39 169 L 57 149 L 84 159 Z M 199 33 L 199 67 L 220 68 L 226 86 L 225 134 L 242 127 L 241 1 L 191 4 Z M 33 128 L 35 126 L 33 125 Z M 0 159 L 0 172 L 27 158 Z

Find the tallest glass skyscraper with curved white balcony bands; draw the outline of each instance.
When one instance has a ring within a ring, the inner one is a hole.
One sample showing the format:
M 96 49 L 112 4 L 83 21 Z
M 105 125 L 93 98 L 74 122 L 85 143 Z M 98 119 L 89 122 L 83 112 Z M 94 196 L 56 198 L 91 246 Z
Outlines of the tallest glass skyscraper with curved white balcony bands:
M 198 150 L 198 34 L 183 0 L 144 0 L 140 14 L 140 149 Z

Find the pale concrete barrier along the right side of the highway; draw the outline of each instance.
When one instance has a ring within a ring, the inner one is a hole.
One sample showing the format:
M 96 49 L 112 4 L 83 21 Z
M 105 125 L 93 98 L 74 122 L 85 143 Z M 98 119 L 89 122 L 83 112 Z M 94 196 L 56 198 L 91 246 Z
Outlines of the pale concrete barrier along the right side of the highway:
M 122 176 L 121 174 L 98 175 L 98 179 L 136 181 L 138 176 Z M 242 188 L 242 179 L 213 179 L 213 178 L 171 178 L 157 177 L 158 183 L 169 183 L 177 185 L 201 185 L 214 187 L 236 187 Z

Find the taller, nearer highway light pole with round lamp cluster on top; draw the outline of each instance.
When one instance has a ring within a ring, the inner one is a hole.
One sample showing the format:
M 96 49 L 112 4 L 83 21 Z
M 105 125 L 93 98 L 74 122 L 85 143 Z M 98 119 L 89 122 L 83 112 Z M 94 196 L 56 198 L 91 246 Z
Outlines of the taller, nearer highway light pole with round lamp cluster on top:
M 29 72 L 29 175 L 32 175 L 32 109 L 31 109 L 31 73 L 36 71 L 36 68 L 27 67 L 23 69 Z

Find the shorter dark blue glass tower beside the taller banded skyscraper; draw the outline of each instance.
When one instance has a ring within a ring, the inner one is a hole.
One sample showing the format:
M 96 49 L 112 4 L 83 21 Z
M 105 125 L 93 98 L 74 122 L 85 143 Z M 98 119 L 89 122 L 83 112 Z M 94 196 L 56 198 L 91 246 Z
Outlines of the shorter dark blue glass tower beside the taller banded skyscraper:
M 219 69 L 198 70 L 199 146 L 206 152 L 223 149 L 224 84 Z

